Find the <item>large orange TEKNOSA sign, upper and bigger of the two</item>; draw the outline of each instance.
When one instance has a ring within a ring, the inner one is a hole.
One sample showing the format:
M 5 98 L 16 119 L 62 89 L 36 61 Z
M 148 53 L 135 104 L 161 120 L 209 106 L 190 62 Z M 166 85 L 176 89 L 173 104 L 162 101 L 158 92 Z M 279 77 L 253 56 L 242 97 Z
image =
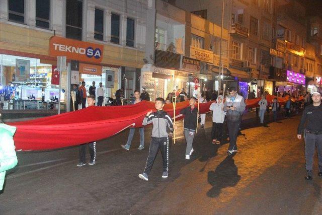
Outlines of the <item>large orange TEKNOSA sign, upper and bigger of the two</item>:
M 51 37 L 49 40 L 50 56 L 66 56 L 67 59 L 99 63 L 103 59 L 103 45 Z

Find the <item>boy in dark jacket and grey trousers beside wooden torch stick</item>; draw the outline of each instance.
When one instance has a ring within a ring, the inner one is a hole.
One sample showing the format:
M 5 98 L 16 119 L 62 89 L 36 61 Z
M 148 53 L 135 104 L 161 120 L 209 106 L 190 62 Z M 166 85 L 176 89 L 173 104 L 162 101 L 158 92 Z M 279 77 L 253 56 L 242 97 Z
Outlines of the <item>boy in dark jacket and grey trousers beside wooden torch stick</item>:
M 186 147 L 186 159 L 189 160 L 193 153 L 192 142 L 197 129 L 197 120 L 200 122 L 200 117 L 198 114 L 198 109 L 195 107 L 197 99 L 191 97 L 189 100 L 189 107 L 184 108 L 180 111 L 182 115 L 185 116 L 184 121 L 184 134 L 187 142 Z

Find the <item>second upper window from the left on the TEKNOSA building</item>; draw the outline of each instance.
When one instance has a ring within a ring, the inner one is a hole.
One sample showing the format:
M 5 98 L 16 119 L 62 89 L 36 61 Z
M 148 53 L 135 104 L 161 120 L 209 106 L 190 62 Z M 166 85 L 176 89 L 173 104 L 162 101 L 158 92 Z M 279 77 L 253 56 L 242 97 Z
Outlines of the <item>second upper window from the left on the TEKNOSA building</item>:
M 49 29 L 50 0 L 36 1 L 36 26 Z

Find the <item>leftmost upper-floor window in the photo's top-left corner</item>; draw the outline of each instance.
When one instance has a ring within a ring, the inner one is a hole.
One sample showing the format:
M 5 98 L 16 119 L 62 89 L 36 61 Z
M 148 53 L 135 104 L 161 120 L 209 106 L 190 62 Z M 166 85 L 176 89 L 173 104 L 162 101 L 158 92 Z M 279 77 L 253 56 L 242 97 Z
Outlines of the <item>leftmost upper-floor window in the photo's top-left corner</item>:
M 25 23 L 25 1 L 9 0 L 9 20 L 14 22 Z

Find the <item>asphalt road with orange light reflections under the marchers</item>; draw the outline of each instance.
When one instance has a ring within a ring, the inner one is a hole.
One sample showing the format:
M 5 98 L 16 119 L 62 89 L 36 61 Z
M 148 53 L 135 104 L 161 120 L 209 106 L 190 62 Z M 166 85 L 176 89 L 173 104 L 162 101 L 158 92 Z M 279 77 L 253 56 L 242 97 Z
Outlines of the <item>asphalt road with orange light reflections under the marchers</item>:
M 150 127 L 142 151 L 137 150 L 138 130 L 129 152 L 120 147 L 128 130 L 98 141 L 94 166 L 76 167 L 77 147 L 18 152 L 19 165 L 9 171 L 0 194 L 0 214 L 321 214 L 322 178 L 315 157 L 313 180 L 304 180 L 304 145 L 296 139 L 299 119 L 260 126 L 246 114 L 238 153 L 227 157 L 227 143 L 210 144 L 207 116 L 191 160 L 185 160 L 178 123 L 169 177 L 161 177 L 159 153 L 148 182 L 137 175 L 145 167 Z

